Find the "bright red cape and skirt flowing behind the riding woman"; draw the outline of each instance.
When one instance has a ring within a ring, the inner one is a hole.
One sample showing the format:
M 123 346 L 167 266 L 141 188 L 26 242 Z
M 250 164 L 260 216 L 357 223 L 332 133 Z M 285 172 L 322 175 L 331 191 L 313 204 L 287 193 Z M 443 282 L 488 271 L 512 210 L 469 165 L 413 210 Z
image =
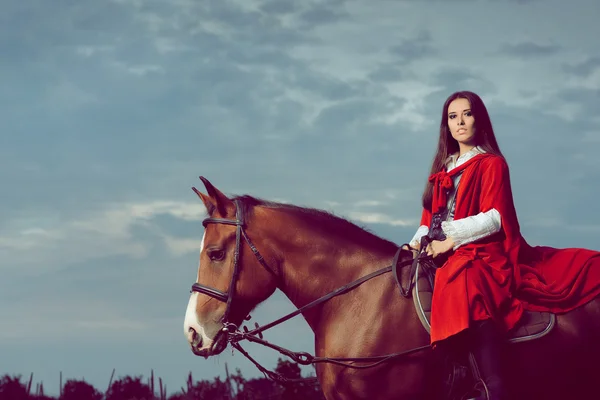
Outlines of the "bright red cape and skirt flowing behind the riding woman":
M 530 246 L 521 236 L 504 158 L 481 154 L 469 164 L 458 185 L 454 219 L 495 208 L 502 227 L 451 252 L 437 271 L 432 343 L 468 328 L 474 320 L 493 318 L 508 330 L 524 309 L 564 313 L 597 297 L 600 252 Z M 439 199 L 438 191 L 434 193 L 434 200 Z M 424 210 L 421 225 L 430 223 L 431 212 Z

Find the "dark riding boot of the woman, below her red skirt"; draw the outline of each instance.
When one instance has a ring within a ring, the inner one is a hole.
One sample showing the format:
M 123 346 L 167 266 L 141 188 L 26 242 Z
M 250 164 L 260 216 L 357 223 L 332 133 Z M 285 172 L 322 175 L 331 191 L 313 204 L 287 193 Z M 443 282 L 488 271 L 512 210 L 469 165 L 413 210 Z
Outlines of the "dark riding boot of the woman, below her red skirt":
M 491 320 L 477 322 L 472 329 L 470 361 L 479 394 L 474 400 L 506 400 L 502 371 L 504 336 Z

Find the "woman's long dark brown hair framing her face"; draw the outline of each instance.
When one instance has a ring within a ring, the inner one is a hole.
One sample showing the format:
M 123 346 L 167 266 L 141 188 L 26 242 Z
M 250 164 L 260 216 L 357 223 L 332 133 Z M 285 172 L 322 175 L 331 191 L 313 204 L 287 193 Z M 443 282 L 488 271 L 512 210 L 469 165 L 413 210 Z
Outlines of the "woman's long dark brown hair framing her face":
M 445 166 L 445 161 L 451 154 L 458 152 L 458 142 L 452 137 L 450 128 L 448 127 L 448 106 L 456 99 L 467 99 L 471 105 L 471 113 L 475 119 L 475 145 L 480 146 L 486 152 L 504 157 L 498 142 L 496 141 L 496 135 L 494 135 L 494 129 L 492 128 L 492 121 L 488 114 L 483 100 L 477 94 L 469 91 L 460 91 L 452 93 L 444 103 L 442 109 L 442 120 L 440 122 L 440 138 L 438 140 L 438 147 L 435 157 L 433 157 L 433 163 L 431 165 L 430 174 L 435 174 L 441 171 Z M 423 191 L 423 207 L 427 210 L 431 210 L 431 201 L 433 197 L 433 185 L 427 181 L 425 190 Z

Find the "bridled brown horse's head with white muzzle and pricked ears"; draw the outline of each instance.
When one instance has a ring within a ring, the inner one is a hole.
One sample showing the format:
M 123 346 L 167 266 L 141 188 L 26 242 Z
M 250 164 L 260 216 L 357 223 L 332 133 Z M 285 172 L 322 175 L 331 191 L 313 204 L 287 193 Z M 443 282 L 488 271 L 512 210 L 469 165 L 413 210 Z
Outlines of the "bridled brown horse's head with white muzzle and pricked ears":
M 272 254 L 255 254 L 247 232 L 259 234 L 259 221 L 248 228 L 249 212 L 200 177 L 207 194 L 192 188 L 206 207 L 196 283 L 192 286 L 184 333 L 194 354 L 208 357 L 227 347 L 224 328 L 239 326 L 276 288 Z M 261 235 L 262 236 L 262 235 Z M 262 257 L 269 260 L 262 261 Z M 261 265 L 263 263 L 263 265 Z

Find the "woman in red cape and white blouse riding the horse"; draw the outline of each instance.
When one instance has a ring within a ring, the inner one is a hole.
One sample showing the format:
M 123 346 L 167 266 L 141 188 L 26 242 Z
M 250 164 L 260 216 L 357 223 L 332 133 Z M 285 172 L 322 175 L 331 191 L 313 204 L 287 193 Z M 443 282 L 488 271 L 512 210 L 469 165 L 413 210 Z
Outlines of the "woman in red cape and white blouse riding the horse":
M 505 398 L 499 365 L 504 334 L 524 309 L 567 312 L 595 298 L 600 253 L 526 243 L 508 165 L 487 109 L 472 92 L 453 93 L 444 103 L 422 204 L 421 226 L 410 246 L 440 267 L 431 343 L 436 347 L 459 334 L 470 335 L 469 350 L 482 377 L 481 398 Z M 421 249 L 424 236 L 435 240 Z

